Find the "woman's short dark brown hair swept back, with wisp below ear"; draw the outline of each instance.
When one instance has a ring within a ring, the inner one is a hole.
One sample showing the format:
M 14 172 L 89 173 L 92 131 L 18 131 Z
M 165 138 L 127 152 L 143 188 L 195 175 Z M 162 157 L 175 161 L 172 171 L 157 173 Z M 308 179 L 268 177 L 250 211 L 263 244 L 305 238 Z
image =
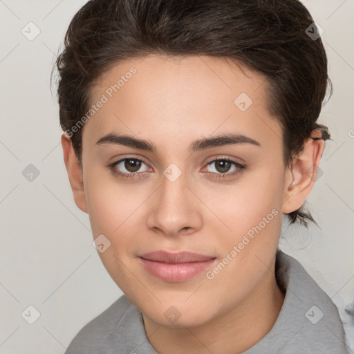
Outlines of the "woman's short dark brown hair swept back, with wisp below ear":
M 321 38 L 308 35 L 308 28 L 317 33 L 313 23 L 298 0 L 88 1 L 71 20 L 55 63 L 61 127 L 77 124 L 97 77 L 121 60 L 150 53 L 228 57 L 267 77 L 268 109 L 281 123 L 289 167 L 313 129 L 330 139 L 316 122 L 332 83 Z M 71 140 L 81 165 L 82 129 Z M 288 217 L 316 223 L 304 205 Z

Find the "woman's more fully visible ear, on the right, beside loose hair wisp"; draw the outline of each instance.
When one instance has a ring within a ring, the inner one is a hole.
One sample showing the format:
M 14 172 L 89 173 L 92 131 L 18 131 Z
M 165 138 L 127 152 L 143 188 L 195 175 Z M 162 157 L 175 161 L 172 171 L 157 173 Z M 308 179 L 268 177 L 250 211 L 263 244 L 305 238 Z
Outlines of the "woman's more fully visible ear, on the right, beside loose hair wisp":
M 304 144 L 291 168 L 286 171 L 286 185 L 283 194 L 282 212 L 289 214 L 295 212 L 306 201 L 306 197 L 313 189 L 324 151 L 322 133 L 315 129 L 312 137 Z

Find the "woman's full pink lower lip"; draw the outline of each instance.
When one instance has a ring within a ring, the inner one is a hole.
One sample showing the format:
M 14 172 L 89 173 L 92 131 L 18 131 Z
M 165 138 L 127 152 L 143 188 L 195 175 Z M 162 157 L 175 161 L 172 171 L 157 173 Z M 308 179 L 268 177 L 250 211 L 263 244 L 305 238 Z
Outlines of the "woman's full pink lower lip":
M 187 281 L 196 277 L 197 274 L 207 269 L 216 259 L 209 259 L 203 262 L 170 264 L 140 258 L 145 269 L 154 277 L 164 281 Z

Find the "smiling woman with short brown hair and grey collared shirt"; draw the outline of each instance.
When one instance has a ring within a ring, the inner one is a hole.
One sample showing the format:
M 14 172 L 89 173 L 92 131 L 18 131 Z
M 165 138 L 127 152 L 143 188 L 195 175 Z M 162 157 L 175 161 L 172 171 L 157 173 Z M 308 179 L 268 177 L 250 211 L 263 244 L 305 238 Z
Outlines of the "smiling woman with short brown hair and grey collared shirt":
M 328 129 L 327 59 L 297 0 L 94 0 L 57 59 L 64 161 L 124 295 L 66 353 L 348 353 L 277 246 Z

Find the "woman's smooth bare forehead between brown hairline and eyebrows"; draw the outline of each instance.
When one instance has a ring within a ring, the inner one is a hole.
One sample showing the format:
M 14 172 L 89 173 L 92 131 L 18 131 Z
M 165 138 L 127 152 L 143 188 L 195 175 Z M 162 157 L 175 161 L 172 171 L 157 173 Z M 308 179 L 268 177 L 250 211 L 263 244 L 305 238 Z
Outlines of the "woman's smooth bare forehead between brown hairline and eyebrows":
M 225 57 L 124 60 L 95 83 L 91 102 L 104 96 L 106 103 L 87 130 L 91 138 L 122 130 L 145 137 L 146 132 L 157 146 L 230 130 L 274 142 L 281 130 L 268 111 L 267 87 L 263 75 Z

